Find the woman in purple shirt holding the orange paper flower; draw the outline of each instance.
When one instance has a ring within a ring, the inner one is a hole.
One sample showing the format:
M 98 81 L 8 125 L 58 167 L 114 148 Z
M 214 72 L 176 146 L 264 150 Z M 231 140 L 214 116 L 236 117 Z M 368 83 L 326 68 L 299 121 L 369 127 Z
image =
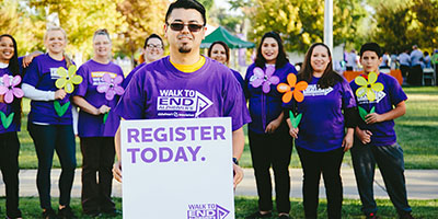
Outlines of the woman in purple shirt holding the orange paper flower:
M 290 118 L 287 122 L 304 174 L 304 215 L 306 218 L 318 218 L 322 173 L 327 215 L 337 219 L 341 218 L 343 201 L 341 163 L 344 152 L 353 146 L 356 101 L 348 82 L 333 70 L 332 55 L 325 44 L 316 43 L 309 48 L 298 79 L 309 84 L 303 91 L 304 100 L 292 101 L 287 106 L 302 114 L 301 123 L 293 128 Z M 285 114 L 288 117 L 289 111 Z

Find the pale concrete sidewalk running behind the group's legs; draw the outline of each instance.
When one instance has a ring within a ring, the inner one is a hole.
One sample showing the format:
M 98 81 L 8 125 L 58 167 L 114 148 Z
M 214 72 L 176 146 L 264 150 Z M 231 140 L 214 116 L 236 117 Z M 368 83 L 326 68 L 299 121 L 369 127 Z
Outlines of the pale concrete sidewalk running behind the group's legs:
M 51 170 L 51 196 L 59 197 L 58 177 L 60 169 Z M 238 196 L 257 196 L 255 188 L 253 169 L 244 169 L 244 178 L 235 189 Z M 291 194 L 290 197 L 301 198 L 302 172 L 301 169 L 290 169 L 291 174 Z M 438 170 L 406 170 L 407 196 L 410 199 L 438 199 Z M 344 185 L 344 198 L 358 199 L 359 195 L 356 188 L 356 180 L 350 168 L 342 169 Z M 4 196 L 4 184 L 0 174 L 0 196 Z M 20 196 L 38 196 L 36 189 L 36 170 L 20 171 Z M 274 184 L 274 183 L 273 183 Z M 274 192 L 273 192 L 274 194 Z M 380 172 L 376 171 L 374 195 L 377 198 L 389 198 L 384 191 L 384 183 Z M 81 196 L 81 169 L 77 169 L 73 189 L 73 197 Z M 113 182 L 113 196 L 122 197 L 122 184 Z M 321 178 L 320 197 L 325 197 L 323 180 Z

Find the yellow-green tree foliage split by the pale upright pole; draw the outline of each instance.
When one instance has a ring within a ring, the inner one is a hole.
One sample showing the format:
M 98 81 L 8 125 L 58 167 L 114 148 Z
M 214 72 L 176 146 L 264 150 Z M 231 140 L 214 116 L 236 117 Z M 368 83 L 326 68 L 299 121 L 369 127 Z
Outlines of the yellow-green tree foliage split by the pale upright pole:
M 324 2 L 322 0 L 230 0 L 243 8 L 252 23 L 250 39 L 260 39 L 269 31 L 280 33 L 287 50 L 306 51 L 312 43 L 323 42 Z M 367 16 L 360 0 L 334 3 L 334 45 L 357 41 L 359 27 Z

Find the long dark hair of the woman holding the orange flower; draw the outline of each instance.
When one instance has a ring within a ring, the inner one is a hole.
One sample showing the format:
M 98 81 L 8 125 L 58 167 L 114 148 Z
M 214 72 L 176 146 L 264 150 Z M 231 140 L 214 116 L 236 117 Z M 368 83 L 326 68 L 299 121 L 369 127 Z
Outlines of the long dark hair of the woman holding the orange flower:
M 328 47 L 323 43 L 315 43 L 315 44 L 312 44 L 312 46 L 310 46 L 310 48 L 306 53 L 304 61 L 302 62 L 302 68 L 300 70 L 300 72 L 298 73 L 298 78 L 300 80 L 307 81 L 308 83 L 310 83 L 312 81 L 313 68 L 312 68 L 310 59 L 312 58 L 313 49 L 316 46 L 323 46 L 324 48 L 326 48 L 328 58 L 330 58 L 330 62 L 328 62 L 327 67 L 325 68 L 324 73 L 322 74 L 321 79 L 318 81 L 318 87 L 321 89 L 326 89 L 328 87 L 335 85 L 338 82 L 342 82 L 343 78 L 338 73 L 336 73 L 336 71 L 333 70 L 332 54 L 330 53 Z

